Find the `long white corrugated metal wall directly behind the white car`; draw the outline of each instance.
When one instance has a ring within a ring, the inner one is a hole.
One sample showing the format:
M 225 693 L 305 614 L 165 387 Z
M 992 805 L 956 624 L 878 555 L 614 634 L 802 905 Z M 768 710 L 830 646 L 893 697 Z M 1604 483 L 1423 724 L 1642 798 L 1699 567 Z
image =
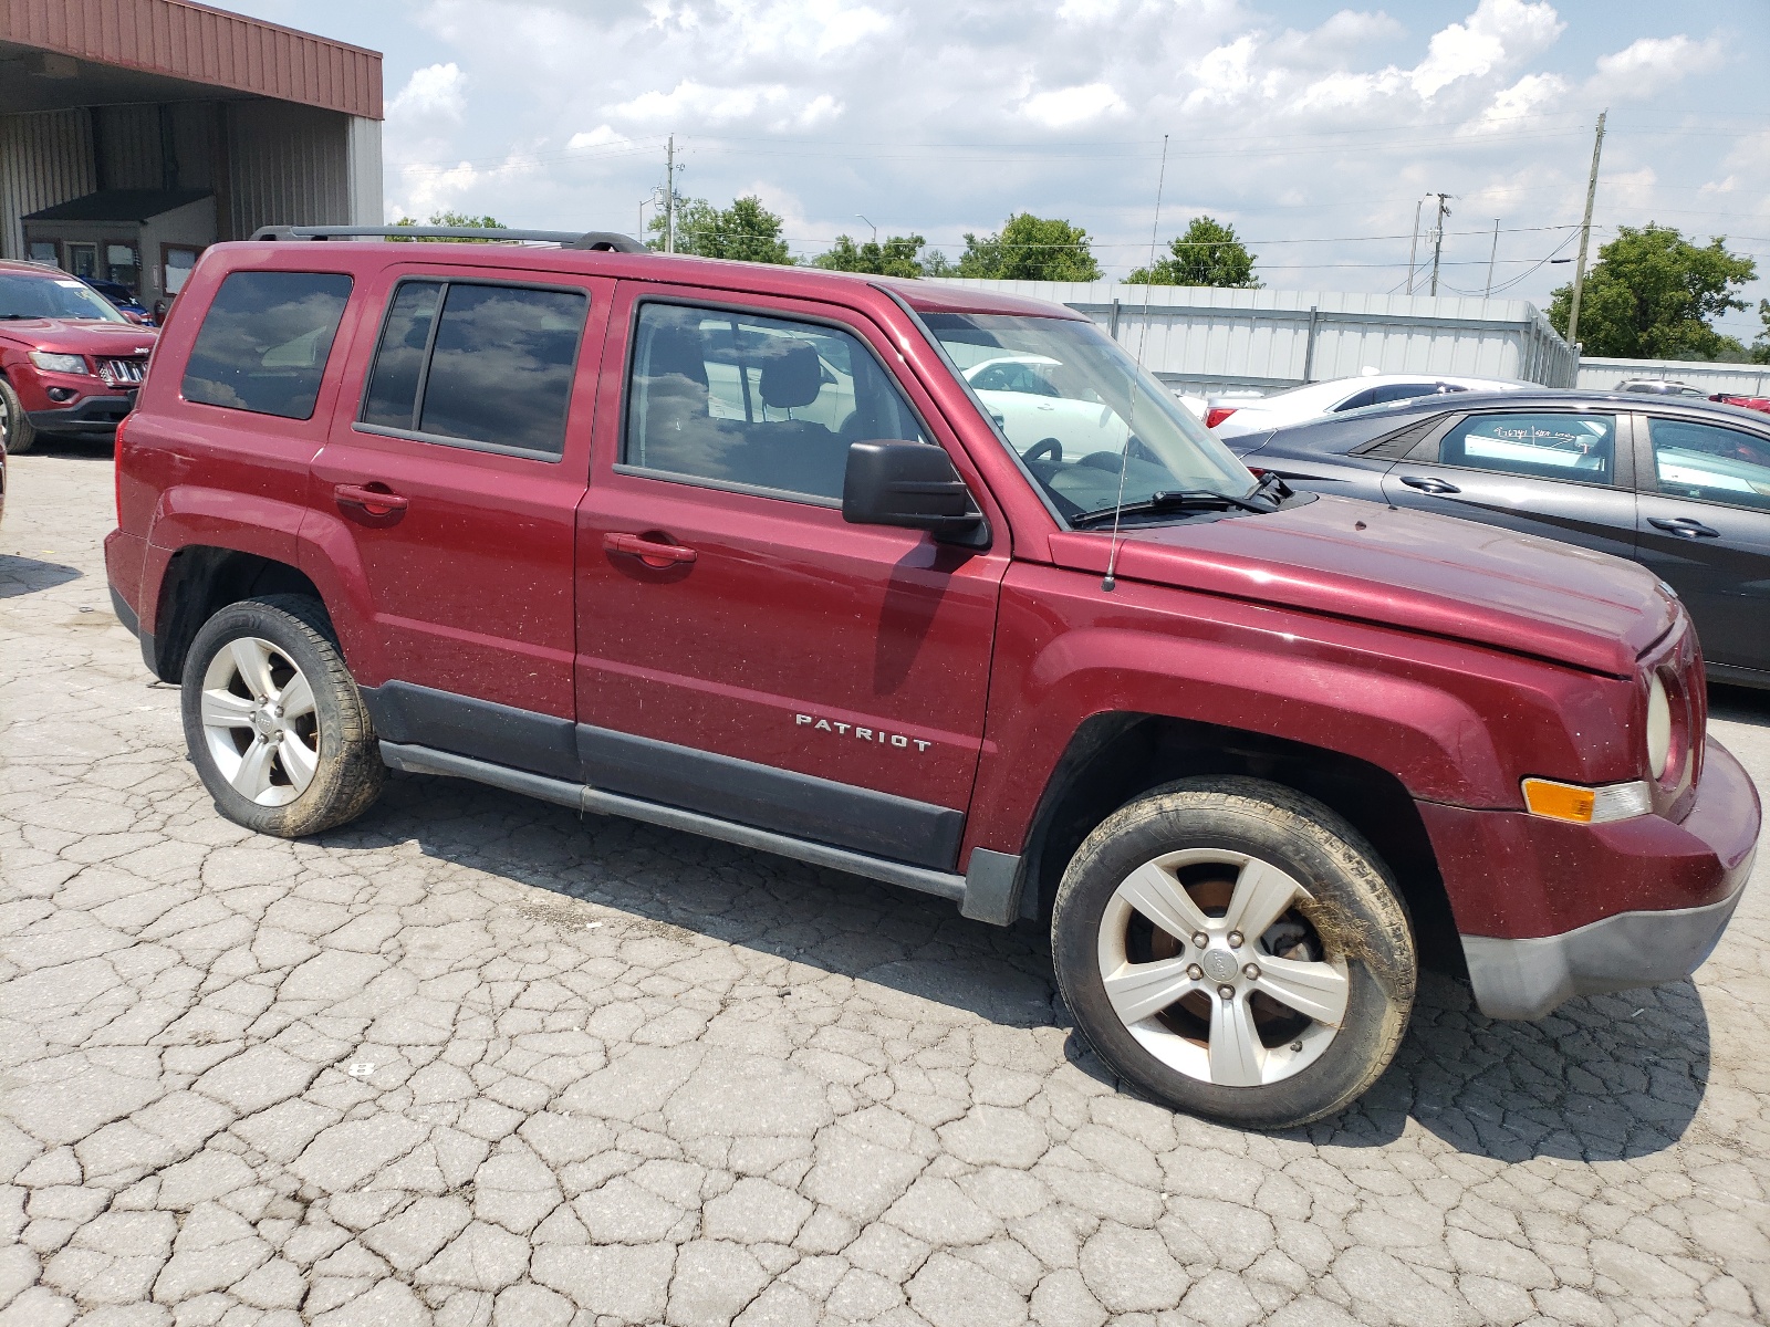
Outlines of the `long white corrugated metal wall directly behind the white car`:
M 1572 386 L 1574 350 L 1522 299 L 952 281 L 1087 313 L 1174 386 L 1292 387 L 1382 373 L 1460 373 Z M 1147 306 L 1147 317 L 1145 317 Z

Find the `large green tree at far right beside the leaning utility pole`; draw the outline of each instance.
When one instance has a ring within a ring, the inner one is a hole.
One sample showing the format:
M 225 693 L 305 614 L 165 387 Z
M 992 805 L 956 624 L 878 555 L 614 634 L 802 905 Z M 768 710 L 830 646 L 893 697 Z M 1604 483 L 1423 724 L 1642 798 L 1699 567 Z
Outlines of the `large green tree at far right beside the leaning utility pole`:
M 1589 356 L 1621 359 L 1743 356 L 1743 343 L 1717 333 L 1713 320 L 1747 306 L 1738 290 L 1756 276 L 1758 265 L 1728 253 L 1719 235 L 1697 248 L 1674 226 L 1618 226 L 1586 272 L 1579 340 Z M 1551 297 L 1549 322 L 1563 336 L 1572 304 L 1572 283 Z

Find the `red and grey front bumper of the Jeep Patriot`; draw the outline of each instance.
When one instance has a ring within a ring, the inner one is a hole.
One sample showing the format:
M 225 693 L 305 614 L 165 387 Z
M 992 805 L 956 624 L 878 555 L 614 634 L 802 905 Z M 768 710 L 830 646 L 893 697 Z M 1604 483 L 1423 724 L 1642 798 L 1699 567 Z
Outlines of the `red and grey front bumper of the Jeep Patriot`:
M 1559 825 L 1427 803 L 1421 816 L 1474 1000 L 1501 1019 L 1694 973 L 1738 908 L 1761 823 L 1751 777 L 1713 740 L 1682 823 Z

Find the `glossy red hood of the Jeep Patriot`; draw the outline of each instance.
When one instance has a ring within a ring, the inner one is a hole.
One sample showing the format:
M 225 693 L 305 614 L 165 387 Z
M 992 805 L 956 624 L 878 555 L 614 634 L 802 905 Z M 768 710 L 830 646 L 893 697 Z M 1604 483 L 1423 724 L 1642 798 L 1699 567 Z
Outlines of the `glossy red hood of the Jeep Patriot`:
M 1400 626 L 1627 678 L 1678 621 L 1650 571 L 1455 517 L 1319 497 L 1271 515 L 1133 525 L 1126 580 Z M 1101 573 L 1112 534 L 1051 536 L 1051 561 Z

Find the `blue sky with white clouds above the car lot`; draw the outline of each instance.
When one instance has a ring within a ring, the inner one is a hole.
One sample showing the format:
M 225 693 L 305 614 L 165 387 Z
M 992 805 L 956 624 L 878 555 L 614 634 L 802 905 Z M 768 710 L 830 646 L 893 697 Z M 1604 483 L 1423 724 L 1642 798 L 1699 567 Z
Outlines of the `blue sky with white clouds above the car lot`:
M 1143 262 L 1209 212 L 1269 287 L 1391 290 L 1414 203 L 1453 195 L 1446 288 L 1563 283 L 1591 129 L 1598 237 L 1657 219 L 1770 276 L 1770 5 L 1414 0 L 237 0 L 386 55 L 388 203 L 635 230 L 662 180 L 759 193 L 798 253 L 917 232 L 958 251 L 1014 211 Z M 1747 292 L 1770 297 L 1770 280 Z M 1751 336 L 1756 313 L 1728 329 Z

